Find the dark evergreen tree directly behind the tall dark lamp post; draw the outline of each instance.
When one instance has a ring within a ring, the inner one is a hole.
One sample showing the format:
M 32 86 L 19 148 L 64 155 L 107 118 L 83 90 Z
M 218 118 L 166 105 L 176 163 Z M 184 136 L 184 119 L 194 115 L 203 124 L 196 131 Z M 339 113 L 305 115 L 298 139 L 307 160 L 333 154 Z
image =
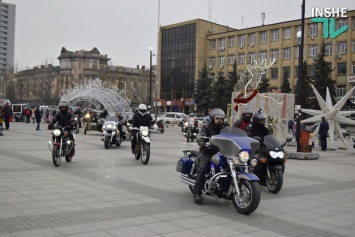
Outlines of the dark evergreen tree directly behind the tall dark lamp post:
M 312 79 L 309 76 L 309 67 L 306 61 L 303 62 L 302 66 L 302 86 L 301 86 L 301 108 L 303 109 L 311 109 L 313 100 L 312 97 L 314 97 L 314 93 L 311 87 L 312 84 Z M 296 82 L 296 90 L 295 90 L 295 104 L 298 104 L 298 80 Z

